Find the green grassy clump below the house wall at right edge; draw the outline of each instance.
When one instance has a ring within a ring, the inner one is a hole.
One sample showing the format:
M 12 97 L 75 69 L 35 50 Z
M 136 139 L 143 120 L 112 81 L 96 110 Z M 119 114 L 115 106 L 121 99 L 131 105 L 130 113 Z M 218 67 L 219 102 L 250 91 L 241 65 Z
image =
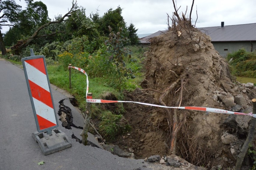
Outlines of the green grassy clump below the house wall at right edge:
M 256 78 L 256 53 L 244 48 L 227 55 L 230 72 L 234 76 Z

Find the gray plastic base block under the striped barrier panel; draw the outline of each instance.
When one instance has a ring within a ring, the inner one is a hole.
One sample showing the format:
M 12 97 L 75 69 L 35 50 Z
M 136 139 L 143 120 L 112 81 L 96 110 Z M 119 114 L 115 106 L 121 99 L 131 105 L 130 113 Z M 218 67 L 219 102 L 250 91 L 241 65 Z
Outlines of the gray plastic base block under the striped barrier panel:
M 32 133 L 35 141 L 38 142 L 39 147 L 44 155 L 48 155 L 59 150 L 71 147 L 72 144 L 69 138 L 59 128 L 51 130 L 52 134 L 48 135 L 47 132 L 34 132 Z

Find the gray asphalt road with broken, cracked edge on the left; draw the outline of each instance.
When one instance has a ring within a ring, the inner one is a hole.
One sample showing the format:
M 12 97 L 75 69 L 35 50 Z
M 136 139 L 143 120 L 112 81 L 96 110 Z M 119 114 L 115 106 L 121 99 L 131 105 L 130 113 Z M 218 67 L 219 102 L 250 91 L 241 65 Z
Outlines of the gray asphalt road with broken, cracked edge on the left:
M 51 89 L 58 112 L 58 102 L 67 96 Z M 76 123 L 83 123 L 81 115 L 73 109 L 73 115 L 78 114 L 74 116 Z M 0 58 L 0 170 L 152 169 L 152 164 L 142 163 L 142 159 L 122 158 L 97 147 L 84 146 L 71 138 L 73 132 L 78 134 L 81 129 L 65 129 L 59 120 L 58 123 L 72 147 L 45 156 L 32 138 L 37 129 L 24 71 Z M 45 163 L 38 165 L 40 161 Z

